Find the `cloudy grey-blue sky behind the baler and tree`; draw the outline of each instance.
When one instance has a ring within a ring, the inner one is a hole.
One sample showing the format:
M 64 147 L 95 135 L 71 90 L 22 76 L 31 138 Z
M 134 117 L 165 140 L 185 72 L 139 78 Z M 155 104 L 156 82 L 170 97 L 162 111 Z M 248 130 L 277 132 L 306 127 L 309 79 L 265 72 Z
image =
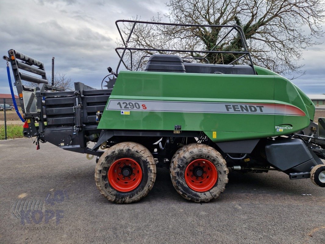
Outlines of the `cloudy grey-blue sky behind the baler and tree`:
M 43 61 L 55 71 L 100 88 L 107 67 L 114 68 L 118 33 L 115 20 L 148 20 L 168 9 L 161 0 L 0 0 L 1 57 L 9 49 Z M 324 28 L 325 29 L 325 25 Z M 324 42 L 325 38 L 320 41 Z M 325 93 L 325 44 L 304 52 L 306 74 L 293 83 L 305 93 Z M 0 65 L 0 93 L 9 93 L 6 62 Z

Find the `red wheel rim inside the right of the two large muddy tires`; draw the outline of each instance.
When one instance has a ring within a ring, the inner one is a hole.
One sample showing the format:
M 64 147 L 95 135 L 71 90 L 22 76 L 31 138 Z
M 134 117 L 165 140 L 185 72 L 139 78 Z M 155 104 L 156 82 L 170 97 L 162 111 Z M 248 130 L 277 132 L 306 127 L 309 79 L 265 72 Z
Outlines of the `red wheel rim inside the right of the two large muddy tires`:
M 214 187 L 218 179 L 218 171 L 214 164 L 206 159 L 196 159 L 185 169 L 185 182 L 196 192 L 206 192 Z

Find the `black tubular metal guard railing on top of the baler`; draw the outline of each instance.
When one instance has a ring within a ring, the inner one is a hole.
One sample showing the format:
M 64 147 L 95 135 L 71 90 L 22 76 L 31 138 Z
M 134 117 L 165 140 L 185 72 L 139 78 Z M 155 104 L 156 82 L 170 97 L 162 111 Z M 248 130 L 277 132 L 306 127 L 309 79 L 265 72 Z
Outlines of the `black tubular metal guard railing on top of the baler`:
M 133 23 L 133 26 L 131 28 L 130 34 L 128 35 L 126 41 L 123 38 L 123 35 L 121 33 L 121 30 L 119 28 L 118 23 L 124 23 L 124 22 L 129 22 L 129 23 Z M 130 41 L 131 35 L 134 31 L 134 28 L 136 26 L 137 23 L 143 23 L 143 24 L 153 24 L 153 25 L 172 25 L 172 26 L 189 26 L 189 27 L 219 27 L 219 28 L 230 28 L 230 30 L 227 32 L 227 34 L 224 35 L 224 37 L 221 38 L 221 40 L 215 44 L 215 46 L 210 50 L 177 50 L 177 49 L 161 49 L 161 48 L 136 48 L 136 47 L 127 47 L 127 43 Z M 121 36 L 121 39 L 123 41 L 124 47 L 117 47 L 115 48 L 115 51 L 117 53 L 117 55 L 119 56 L 120 60 L 118 62 L 117 68 L 116 68 L 116 74 L 118 74 L 118 70 L 120 68 L 121 63 L 123 63 L 124 67 L 127 70 L 133 70 L 133 61 L 132 61 L 132 50 L 137 50 L 137 51 L 166 51 L 166 52 L 179 52 L 179 53 L 187 53 L 187 52 L 193 52 L 193 53 L 206 53 L 206 55 L 204 57 L 201 58 L 194 58 L 193 59 L 202 59 L 202 60 L 207 60 L 206 57 L 207 55 L 209 55 L 210 53 L 232 53 L 232 54 L 242 54 L 239 58 L 237 58 L 236 60 L 230 62 L 229 64 L 233 64 L 234 62 L 244 58 L 245 56 L 248 56 L 249 61 L 251 63 L 252 69 L 254 74 L 256 75 L 255 69 L 254 69 L 254 64 L 252 61 L 252 57 L 250 52 L 248 51 L 248 45 L 246 42 L 246 38 L 245 38 L 245 34 L 243 29 L 238 26 L 238 25 L 199 25 L 199 24 L 174 24 L 174 23 L 163 23 L 163 22 L 151 22 L 151 21 L 137 21 L 137 20 L 116 20 L 115 21 L 115 25 L 117 27 L 117 30 Z M 242 43 L 242 46 L 244 48 L 244 51 L 214 51 L 213 49 L 215 47 L 217 47 L 233 30 L 237 31 L 239 36 L 240 36 L 240 40 Z M 120 55 L 120 53 L 118 52 L 118 50 L 123 50 L 122 54 Z M 123 61 L 123 57 L 124 54 L 126 52 L 126 50 L 130 51 L 131 53 L 131 68 L 128 67 L 125 62 Z M 139 64 L 137 65 L 137 69 L 139 68 L 140 62 L 142 61 L 142 59 L 145 56 L 141 57 Z

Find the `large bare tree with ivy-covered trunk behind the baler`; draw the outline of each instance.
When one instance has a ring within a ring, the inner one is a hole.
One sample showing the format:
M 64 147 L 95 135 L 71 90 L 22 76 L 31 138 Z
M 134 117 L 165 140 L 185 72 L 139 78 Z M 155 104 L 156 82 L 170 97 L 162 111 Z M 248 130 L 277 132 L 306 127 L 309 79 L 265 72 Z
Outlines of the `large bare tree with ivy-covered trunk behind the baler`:
M 282 75 L 303 74 L 298 63 L 302 51 L 319 44 L 315 40 L 323 34 L 324 3 L 319 0 L 170 0 L 166 6 L 169 12 L 164 16 L 172 23 L 240 25 L 253 61 Z M 151 19 L 161 20 L 159 14 Z M 123 35 L 130 29 L 125 24 Z M 223 34 L 224 28 L 137 24 L 128 47 L 242 51 L 236 34 L 214 47 Z M 137 58 L 142 55 L 135 52 Z M 185 56 L 200 57 L 197 53 Z M 207 58 L 211 63 L 229 63 L 237 57 L 211 54 Z

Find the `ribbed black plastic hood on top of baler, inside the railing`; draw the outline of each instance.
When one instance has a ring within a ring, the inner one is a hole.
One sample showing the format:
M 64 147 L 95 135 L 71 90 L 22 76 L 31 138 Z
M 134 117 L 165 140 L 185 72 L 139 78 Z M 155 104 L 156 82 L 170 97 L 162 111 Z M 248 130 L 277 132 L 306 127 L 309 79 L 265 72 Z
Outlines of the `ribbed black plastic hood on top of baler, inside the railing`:
M 177 55 L 153 54 L 145 71 L 185 73 L 183 60 Z

